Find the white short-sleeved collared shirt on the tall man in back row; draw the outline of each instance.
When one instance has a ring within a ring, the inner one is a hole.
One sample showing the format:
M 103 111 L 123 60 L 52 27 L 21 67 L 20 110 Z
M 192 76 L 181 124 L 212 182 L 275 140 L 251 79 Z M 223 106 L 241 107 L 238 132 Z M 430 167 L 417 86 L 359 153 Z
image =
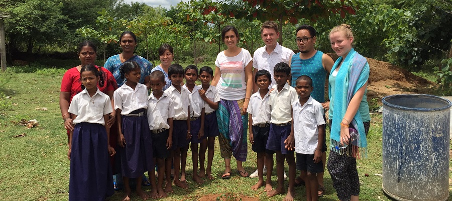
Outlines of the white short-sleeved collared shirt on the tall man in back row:
M 284 46 L 281 46 L 279 43 L 276 43 L 276 47 L 268 54 L 266 46 L 258 48 L 256 51 L 254 51 L 253 54 L 253 67 L 258 70 L 268 70 L 270 74 L 272 75 L 272 83 L 268 86 L 271 88 L 273 85 L 276 84 L 276 80 L 273 77 L 273 69 L 275 68 L 275 65 L 280 62 L 290 64 L 290 57 L 294 55 L 295 53 Z

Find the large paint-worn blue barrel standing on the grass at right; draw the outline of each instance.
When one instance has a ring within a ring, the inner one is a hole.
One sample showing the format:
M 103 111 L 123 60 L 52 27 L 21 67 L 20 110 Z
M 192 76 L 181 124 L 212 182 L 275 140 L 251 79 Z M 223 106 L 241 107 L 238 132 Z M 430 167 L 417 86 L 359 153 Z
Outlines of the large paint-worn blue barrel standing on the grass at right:
M 397 200 L 449 196 L 449 100 L 390 95 L 383 102 L 383 191 Z

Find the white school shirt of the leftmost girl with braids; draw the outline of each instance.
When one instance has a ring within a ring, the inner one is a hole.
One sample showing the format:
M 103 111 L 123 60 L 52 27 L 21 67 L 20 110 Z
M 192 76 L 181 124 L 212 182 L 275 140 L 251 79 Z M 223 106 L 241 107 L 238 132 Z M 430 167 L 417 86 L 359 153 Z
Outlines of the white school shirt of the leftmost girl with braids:
M 80 93 L 74 95 L 67 112 L 77 115 L 72 121 L 74 124 L 87 122 L 105 125 L 103 116 L 113 112 L 113 109 L 111 108 L 110 97 L 107 94 L 102 93 L 97 88 L 96 93 L 90 97 L 85 88 Z

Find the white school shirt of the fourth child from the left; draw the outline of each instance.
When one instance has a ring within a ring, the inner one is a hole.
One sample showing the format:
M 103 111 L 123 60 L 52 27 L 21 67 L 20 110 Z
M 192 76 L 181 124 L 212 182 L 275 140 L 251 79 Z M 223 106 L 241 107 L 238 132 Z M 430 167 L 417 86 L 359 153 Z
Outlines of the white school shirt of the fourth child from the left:
M 184 87 L 180 87 L 180 92 L 174 88 L 171 84 L 169 88 L 165 90 L 168 97 L 173 100 L 174 108 L 174 120 L 187 120 L 188 118 L 188 106 L 190 106 L 190 100 L 188 99 L 188 90 Z

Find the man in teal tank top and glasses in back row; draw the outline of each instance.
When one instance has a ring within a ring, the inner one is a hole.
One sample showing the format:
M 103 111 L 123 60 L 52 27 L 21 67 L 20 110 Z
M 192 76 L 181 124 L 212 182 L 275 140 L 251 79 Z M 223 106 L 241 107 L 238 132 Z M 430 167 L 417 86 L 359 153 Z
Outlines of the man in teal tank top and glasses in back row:
M 331 67 L 334 65 L 334 61 L 328 55 L 314 49 L 316 33 L 312 26 L 302 25 L 297 28 L 295 33 L 295 42 L 297 43 L 297 47 L 300 52 L 290 58 L 290 84 L 295 87 L 295 80 L 301 75 L 311 77 L 312 86 L 314 87 L 311 92 L 312 98 L 321 103 L 324 110 L 328 110 L 329 103 L 325 103 L 325 80 L 326 73 L 329 74 Z M 325 119 L 325 116 L 323 116 L 323 118 Z M 326 162 L 326 141 L 323 141 L 322 143 L 323 145 L 321 151 L 324 169 Z M 323 172 L 317 173 L 317 180 L 319 183 L 318 194 L 319 196 L 322 196 L 324 194 Z M 300 177 L 297 177 L 295 185 L 299 185 L 300 183 L 303 183 L 301 175 Z

